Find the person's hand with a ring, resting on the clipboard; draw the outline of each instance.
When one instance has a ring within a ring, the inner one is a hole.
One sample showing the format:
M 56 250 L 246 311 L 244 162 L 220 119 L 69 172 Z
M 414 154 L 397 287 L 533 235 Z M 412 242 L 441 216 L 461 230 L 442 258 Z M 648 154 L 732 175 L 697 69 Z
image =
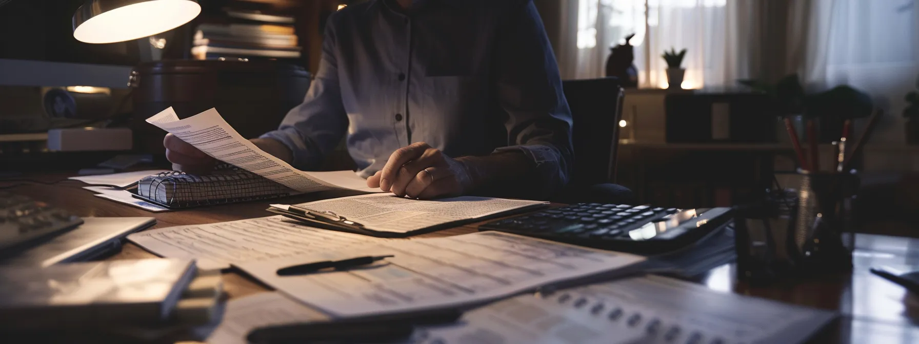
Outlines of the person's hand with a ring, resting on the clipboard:
M 471 190 L 471 184 L 463 162 L 425 142 L 394 151 L 386 166 L 367 179 L 369 187 L 419 199 L 465 194 Z

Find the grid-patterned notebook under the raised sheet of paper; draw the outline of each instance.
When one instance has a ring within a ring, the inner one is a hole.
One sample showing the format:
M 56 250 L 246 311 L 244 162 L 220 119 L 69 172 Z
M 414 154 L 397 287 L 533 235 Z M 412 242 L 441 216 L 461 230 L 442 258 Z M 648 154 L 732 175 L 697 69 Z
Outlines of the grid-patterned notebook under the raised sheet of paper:
M 144 177 L 132 192 L 135 197 L 170 209 L 299 194 L 280 183 L 228 164 L 208 175 L 169 171 Z

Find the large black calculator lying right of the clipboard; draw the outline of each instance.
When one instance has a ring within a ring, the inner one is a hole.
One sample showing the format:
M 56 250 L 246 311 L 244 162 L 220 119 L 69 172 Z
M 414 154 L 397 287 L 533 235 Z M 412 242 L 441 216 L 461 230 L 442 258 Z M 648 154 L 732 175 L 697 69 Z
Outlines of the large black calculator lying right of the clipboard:
M 641 254 L 679 250 L 725 227 L 731 208 L 676 209 L 581 203 L 484 224 L 497 230 L 602 250 Z

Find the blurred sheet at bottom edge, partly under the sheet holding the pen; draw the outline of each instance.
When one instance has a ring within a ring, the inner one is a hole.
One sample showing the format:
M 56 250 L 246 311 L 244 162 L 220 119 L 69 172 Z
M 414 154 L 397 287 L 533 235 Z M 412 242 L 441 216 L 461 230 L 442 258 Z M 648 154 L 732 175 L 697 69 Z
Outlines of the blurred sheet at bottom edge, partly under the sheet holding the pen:
M 277 292 L 231 300 L 223 319 L 207 338 L 212 344 L 246 344 L 245 336 L 257 327 L 324 320 L 327 316 Z

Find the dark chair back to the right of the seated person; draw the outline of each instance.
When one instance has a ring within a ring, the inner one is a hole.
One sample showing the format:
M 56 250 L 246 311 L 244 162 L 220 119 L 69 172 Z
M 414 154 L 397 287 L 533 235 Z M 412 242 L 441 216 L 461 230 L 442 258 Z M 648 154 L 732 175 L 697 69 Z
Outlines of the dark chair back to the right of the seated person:
M 568 80 L 562 89 L 573 117 L 572 183 L 616 183 L 619 119 L 624 91 L 618 78 Z

